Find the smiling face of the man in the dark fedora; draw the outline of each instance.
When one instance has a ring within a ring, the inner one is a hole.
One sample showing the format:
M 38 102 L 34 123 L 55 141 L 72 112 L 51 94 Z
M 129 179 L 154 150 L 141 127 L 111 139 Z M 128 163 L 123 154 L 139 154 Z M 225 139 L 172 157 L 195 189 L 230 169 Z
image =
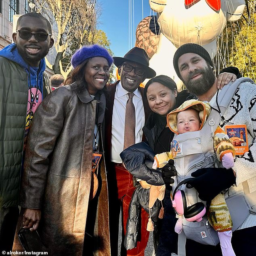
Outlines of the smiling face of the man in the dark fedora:
M 132 61 L 125 61 L 123 64 L 129 64 L 132 67 L 144 69 L 143 65 Z M 128 72 L 124 70 L 123 66 L 120 66 L 118 67 L 118 74 L 120 76 L 122 87 L 128 92 L 134 92 L 145 80 L 145 73 L 142 76 L 139 76 L 135 73 L 134 68 L 132 71 Z

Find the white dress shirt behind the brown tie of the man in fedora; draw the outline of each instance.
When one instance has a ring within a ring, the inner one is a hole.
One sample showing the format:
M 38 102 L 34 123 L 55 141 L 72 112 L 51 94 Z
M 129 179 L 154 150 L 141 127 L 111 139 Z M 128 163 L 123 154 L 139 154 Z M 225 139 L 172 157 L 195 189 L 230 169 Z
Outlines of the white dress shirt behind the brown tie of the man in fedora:
M 145 113 L 141 93 L 138 89 L 134 92 L 132 102 L 135 107 L 135 143 L 142 141 L 142 128 L 145 124 Z M 115 89 L 115 99 L 112 114 L 112 134 L 111 134 L 111 161 L 122 163 L 120 153 L 124 150 L 124 122 L 126 102 L 128 101 L 128 91 L 125 90 L 121 82 Z

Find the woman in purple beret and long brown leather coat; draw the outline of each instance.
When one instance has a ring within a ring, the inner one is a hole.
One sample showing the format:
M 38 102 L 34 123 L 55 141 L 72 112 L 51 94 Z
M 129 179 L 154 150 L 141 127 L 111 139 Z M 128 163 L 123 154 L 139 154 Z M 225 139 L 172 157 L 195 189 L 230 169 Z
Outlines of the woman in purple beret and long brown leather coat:
M 113 60 L 98 45 L 71 59 L 71 84 L 38 107 L 27 143 L 20 205 L 48 255 L 110 255 L 104 166 L 105 95 Z M 93 162 L 92 158 L 100 160 Z M 92 172 L 92 170 L 94 172 Z M 97 183 L 98 181 L 98 183 Z M 98 186 L 98 187 L 97 187 Z M 99 228 L 98 228 L 99 227 Z

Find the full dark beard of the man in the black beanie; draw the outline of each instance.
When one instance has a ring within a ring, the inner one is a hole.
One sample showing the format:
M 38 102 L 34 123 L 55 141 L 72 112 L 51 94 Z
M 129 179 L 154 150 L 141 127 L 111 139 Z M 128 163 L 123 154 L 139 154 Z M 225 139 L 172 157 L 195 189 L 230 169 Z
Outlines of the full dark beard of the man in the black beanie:
M 201 73 L 201 77 L 196 80 L 191 80 L 193 76 Z M 207 64 L 207 67 L 203 69 L 195 69 L 193 73 L 189 73 L 186 79 L 184 79 L 184 84 L 189 92 L 195 94 L 196 96 L 203 95 L 208 92 L 212 87 L 216 79 L 212 71 L 212 67 Z

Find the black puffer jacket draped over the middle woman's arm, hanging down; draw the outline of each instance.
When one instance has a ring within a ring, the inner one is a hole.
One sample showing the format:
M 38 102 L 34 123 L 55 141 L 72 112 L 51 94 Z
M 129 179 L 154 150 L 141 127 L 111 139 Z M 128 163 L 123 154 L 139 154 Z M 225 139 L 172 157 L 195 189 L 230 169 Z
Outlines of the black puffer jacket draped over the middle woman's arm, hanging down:
M 137 143 L 131 147 L 125 149 L 120 153 L 120 157 L 126 167 L 126 169 L 136 178 L 147 181 L 153 185 L 164 185 L 162 179 L 161 170 L 152 170 L 152 164 L 155 153 L 145 142 Z M 124 238 L 124 247 L 126 250 L 130 250 L 137 246 L 138 237 L 138 217 L 140 208 L 149 213 L 149 191 L 150 189 L 144 189 L 139 183 L 129 205 L 129 217 L 126 224 L 126 235 Z M 161 208 L 160 201 L 157 199 L 152 208 L 150 208 L 150 216 L 154 225 L 158 220 L 159 210 Z

